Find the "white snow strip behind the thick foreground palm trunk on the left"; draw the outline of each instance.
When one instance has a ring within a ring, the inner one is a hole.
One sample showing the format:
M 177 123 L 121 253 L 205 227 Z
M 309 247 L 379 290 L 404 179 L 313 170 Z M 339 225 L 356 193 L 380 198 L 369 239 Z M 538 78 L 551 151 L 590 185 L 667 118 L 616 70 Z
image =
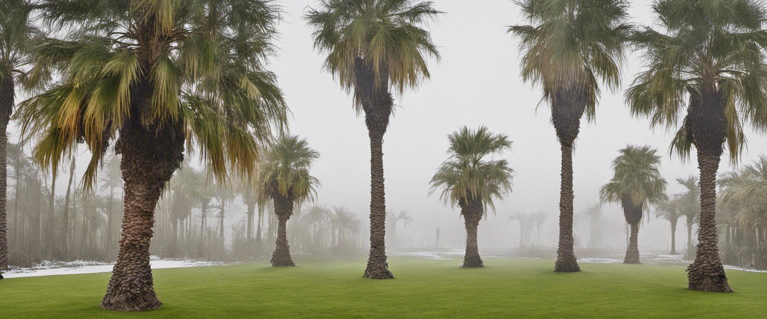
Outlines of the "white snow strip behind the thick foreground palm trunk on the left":
M 200 262 L 196 260 L 170 260 L 151 256 L 152 269 L 201 267 L 212 265 L 224 265 L 223 262 Z M 88 260 L 76 260 L 74 262 L 44 261 L 40 265 L 30 268 L 12 268 L 2 275 L 5 278 L 24 278 L 49 275 L 76 275 L 94 274 L 97 272 L 112 272 L 114 264 L 94 262 Z

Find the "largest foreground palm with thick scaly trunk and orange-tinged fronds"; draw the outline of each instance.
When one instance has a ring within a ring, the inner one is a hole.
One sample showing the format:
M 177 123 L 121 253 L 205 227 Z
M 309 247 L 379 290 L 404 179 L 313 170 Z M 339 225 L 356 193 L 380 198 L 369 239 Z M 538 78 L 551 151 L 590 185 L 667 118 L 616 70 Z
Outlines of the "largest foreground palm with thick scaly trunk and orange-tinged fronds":
M 228 169 L 249 175 L 259 145 L 285 125 L 276 76 L 263 67 L 275 50 L 279 10 L 264 0 L 43 0 L 39 7 L 45 23 L 76 32 L 38 46 L 33 70 L 53 67 L 61 83 L 21 103 L 23 138 L 35 140 L 35 159 L 53 168 L 85 143 L 89 188 L 114 142 L 125 223 L 101 307 L 159 308 L 150 268 L 154 209 L 185 142 L 219 179 Z

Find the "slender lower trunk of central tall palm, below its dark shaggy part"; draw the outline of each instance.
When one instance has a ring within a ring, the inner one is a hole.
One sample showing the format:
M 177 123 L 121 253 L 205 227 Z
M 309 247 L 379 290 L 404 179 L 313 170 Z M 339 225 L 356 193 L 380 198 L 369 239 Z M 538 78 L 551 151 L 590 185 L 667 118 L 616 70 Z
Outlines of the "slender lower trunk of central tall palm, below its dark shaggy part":
M 366 114 L 370 137 L 370 255 L 364 278 L 390 279 L 386 256 L 386 191 L 384 188 L 384 133 L 389 113 L 384 115 Z

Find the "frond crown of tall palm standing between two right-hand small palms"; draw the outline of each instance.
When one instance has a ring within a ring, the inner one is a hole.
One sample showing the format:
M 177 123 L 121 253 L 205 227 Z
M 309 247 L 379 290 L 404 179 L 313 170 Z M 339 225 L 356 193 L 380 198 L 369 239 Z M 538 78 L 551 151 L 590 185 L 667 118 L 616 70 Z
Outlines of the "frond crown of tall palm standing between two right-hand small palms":
M 522 0 L 517 2 L 532 25 L 514 25 L 520 39 L 522 79 L 542 86 L 543 100 L 553 103 L 562 91 L 586 98 L 586 117 L 594 119 L 601 81 L 621 86 L 626 41 L 627 1 Z M 559 97 L 561 98 L 561 97 Z

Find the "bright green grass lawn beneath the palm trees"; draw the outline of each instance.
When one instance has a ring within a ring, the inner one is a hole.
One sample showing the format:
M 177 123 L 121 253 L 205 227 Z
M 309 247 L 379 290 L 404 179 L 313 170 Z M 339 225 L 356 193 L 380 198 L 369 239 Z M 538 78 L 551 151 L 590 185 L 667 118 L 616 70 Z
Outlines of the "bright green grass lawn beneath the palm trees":
M 733 294 L 689 291 L 684 267 L 390 258 L 393 280 L 360 278 L 365 261 L 297 259 L 154 272 L 163 308 L 120 313 L 99 308 L 110 274 L 12 278 L 0 282 L 0 318 L 219 317 L 765 317 L 767 273 L 728 272 Z

